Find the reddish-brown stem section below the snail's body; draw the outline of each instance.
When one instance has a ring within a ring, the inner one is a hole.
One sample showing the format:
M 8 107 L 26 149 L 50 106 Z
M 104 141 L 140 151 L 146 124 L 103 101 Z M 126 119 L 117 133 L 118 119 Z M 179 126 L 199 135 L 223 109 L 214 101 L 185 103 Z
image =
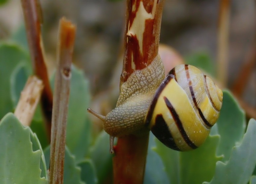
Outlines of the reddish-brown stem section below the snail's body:
M 142 183 L 148 148 L 148 133 L 118 138 L 115 147 L 114 183 Z M 122 160 L 120 160 L 120 157 Z M 123 154 L 123 156 L 121 156 Z

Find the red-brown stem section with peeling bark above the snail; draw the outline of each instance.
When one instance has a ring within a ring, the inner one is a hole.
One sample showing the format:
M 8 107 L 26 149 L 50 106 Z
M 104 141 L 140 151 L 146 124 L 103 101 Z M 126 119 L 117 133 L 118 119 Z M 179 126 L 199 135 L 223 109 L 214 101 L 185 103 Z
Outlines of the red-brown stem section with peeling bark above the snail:
M 157 56 L 163 4 L 164 0 L 127 0 L 121 84 Z

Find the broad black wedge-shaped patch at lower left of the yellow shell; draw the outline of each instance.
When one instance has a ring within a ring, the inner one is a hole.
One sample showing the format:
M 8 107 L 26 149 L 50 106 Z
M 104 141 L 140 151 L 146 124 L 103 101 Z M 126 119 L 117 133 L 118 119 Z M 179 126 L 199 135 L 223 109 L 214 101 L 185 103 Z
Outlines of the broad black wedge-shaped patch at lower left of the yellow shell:
M 167 126 L 167 123 L 165 122 L 163 115 L 158 114 L 155 118 L 155 124 L 151 127 L 151 131 L 153 134 L 164 143 L 167 147 L 170 147 L 173 150 L 180 151 L 179 147 L 175 144 L 173 140 L 173 136 L 171 135 L 171 132 L 169 131 L 169 128 Z

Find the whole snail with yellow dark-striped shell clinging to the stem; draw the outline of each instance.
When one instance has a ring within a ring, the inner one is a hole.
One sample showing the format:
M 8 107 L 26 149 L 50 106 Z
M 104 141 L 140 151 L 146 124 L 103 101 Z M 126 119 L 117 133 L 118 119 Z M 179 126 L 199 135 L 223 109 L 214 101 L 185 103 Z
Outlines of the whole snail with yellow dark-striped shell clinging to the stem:
M 182 64 L 164 78 L 160 56 L 142 70 L 134 71 L 120 87 L 116 108 L 106 116 L 88 108 L 103 121 L 114 137 L 149 131 L 171 149 L 196 149 L 216 123 L 222 105 L 222 91 L 198 68 Z

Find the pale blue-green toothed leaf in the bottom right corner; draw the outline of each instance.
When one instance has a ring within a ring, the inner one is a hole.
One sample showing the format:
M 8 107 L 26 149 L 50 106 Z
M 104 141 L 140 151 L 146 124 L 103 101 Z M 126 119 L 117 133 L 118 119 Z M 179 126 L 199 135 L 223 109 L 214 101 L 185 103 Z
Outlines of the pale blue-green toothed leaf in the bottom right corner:
M 256 164 L 256 121 L 251 119 L 239 146 L 232 149 L 230 159 L 216 163 L 210 183 L 248 183 Z M 204 182 L 207 183 L 207 182 Z

